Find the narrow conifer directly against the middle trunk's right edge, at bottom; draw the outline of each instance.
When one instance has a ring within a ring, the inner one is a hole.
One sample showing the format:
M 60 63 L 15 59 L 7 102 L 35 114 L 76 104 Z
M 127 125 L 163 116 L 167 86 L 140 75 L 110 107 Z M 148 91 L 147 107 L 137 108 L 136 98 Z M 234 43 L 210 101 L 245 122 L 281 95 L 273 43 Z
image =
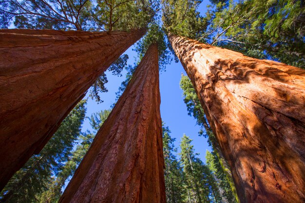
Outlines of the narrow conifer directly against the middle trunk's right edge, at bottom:
M 164 154 L 164 178 L 165 178 L 165 193 L 167 203 L 184 203 L 183 196 L 186 190 L 184 189 L 184 173 L 180 162 L 173 154 L 176 152 L 173 142 L 174 138 L 171 137 L 171 130 L 165 127 L 162 123 L 163 133 L 163 154 Z

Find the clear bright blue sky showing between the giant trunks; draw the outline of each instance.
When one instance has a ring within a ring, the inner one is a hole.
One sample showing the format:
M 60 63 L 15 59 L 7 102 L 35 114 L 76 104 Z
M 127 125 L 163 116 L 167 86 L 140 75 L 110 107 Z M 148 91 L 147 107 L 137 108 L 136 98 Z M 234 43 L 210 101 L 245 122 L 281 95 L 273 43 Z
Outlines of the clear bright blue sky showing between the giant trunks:
M 210 1 L 204 0 L 198 11 L 204 16 L 207 11 L 207 5 Z M 131 46 L 124 54 L 129 55 L 128 64 L 133 65 L 135 62 L 136 52 L 133 51 L 133 46 Z M 87 113 L 86 116 L 91 116 L 92 113 L 110 109 L 111 105 L 115 102 L 115 92 L 118 91 L 118 87 L 121 82 L 125 80 L 126 70 L 122 72 L 122 77 L 112 75 L 110 72 L 106 72 L 108 83 L 105 85 L 108 92 L 100 93 L 103 103 L 97 104 L 91 98 L 88 98 L 88 94 L 85 98 L 87 101 Z M 188 115 L 187 107 L 183 101 L 182 90 L 180 89 L 179 82 L 181 78 L 181 73 L 186 75 L 180 62 L 175 63 L 172 61 L 170 65 L 167 65 L 166 71 L 160 72 L 160 94 L 161 94 L 161 118 L 165 122 L 166 126 L 172 131 L 171 137 L 175 138 L 175 147 L 180 151 L 180 139 L 185 133 L 190 136 L 192 145 L 194 145 L 195 153 L 199 153 L 198 157 L 205 162 L 206 150 L 211 150 L 208 146 L 207 139 L 198 136 L 198 131 L 200 127 L 196 125 L 196 120 Z M 91 129 L 88 118 L 85 119 L 82 126 L 82 130 L 85 131 Z M 177 154 L 178 155 L 178 154 Z

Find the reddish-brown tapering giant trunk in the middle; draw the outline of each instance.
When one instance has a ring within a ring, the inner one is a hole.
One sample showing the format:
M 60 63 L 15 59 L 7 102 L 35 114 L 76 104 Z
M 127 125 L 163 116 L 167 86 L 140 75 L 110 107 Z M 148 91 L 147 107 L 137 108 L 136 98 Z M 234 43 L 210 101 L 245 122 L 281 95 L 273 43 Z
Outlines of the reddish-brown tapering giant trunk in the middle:
M 151 45 L 59 203 L 165 203 L 158 51 Z

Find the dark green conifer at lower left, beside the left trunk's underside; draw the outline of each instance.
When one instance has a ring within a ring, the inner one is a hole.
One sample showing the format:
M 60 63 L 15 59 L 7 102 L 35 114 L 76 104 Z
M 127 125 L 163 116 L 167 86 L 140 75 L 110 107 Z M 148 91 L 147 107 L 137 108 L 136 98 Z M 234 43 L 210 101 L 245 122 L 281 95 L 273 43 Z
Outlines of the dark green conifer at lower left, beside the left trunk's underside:
M 85 103 L 82 100 L 76 105 L 41 152 L 31 157 L 10 179 L 1 192 L 0 202 L 37 202 L 37 196 L 46 189 L 51 177 L 57 175 L 62 163 L 71 155 L 85 118 Z

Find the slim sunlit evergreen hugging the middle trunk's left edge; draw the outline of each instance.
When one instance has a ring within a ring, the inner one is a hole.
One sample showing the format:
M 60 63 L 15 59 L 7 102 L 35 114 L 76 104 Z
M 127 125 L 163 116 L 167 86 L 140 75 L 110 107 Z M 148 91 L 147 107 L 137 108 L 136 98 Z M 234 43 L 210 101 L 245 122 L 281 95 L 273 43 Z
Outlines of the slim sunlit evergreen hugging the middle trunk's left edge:
M 90 124 L 95 130 L 98 130 L 110 114 L 110 110 L 99 111 L 91 116 Z M 82 133 L 78 142 L 80 142 L 76 149 L 72 152 L 69 160 L 64 164 L 62 169 L 57 173 L 56 177 L 48 184 L 47 190 L 37 197 L 39 203 L 57 203 L 62 192 L 61 188 L 72 177 L 77 166 L 85 156 L 90 145 L 95 137 L 94 133 Z

